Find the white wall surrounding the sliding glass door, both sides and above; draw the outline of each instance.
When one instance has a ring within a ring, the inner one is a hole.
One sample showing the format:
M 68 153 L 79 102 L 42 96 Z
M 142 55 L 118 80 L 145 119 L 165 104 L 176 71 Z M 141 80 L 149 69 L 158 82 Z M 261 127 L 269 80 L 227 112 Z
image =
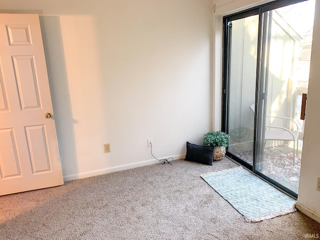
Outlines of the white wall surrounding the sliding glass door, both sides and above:
M 213 119 L 214 126 L 219 125 L 220 112 L 217 111 L 219 106 L 219 86 L 221 79 L 221 27 L 222 16 L 239 10 L 247 9 L 254 5 L 259 5 L 267 1 L 258 0 L 239 0 L 239 1 L 224 1 L 213 0 L 215 3 L 215 12 L 213 14 L 213 86 L 215 106 Z M 320 2 L 316 1 L 315 19 L 313 29 L 313 44 L 310 63 L 310 77 L 308 87 L 307 110 L 304 128 L 303 150 L 301 159 L 301 172 L 298 191 L 297 207 L 312 218 L 320 221 L 320 191 L 316 190 L 316 180 L 320 177 L 320 113 L 318 103 L 320 101 Z

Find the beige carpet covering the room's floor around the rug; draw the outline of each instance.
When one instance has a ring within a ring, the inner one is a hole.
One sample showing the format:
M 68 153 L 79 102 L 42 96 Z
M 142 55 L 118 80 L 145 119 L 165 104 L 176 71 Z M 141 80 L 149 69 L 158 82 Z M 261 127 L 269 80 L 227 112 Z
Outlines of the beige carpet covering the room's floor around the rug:
M 0 239 L 305 239 L 320 224 L 299 211 L 257 223 L 200 174 L 236 166 L 175 160 L 0 196 Z

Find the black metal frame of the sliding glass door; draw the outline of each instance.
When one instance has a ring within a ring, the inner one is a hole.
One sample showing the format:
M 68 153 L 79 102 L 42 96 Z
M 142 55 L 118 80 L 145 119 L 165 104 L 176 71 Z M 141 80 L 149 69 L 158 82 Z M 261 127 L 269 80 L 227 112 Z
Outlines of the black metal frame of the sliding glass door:
M 221 130 L 228 133 L 228 109 L 229 109 L 229 79 L 228 79 L 228 71 L 229 71 L 229 62 L 228 56 L 230 53 L 230 45 L 229 45 L 229 30 L 227 23 L 232 20 L 241 19 L 244 17 L 258 15 L 259 23 L 258 23 L 258 39 L 257 39 L 257 64 L 256 64 L 256 81 L 255 81 L 255 111 L 254 111 L 254 138 L 253 138 L 253 163 L 250 165 L 246 161 L 242 160 L 241 158 L 237 157 L 236 155 L 232 154 L 228 150 L 226 150 L 226 156 L 233 159 L 234 161 L 238 162 L 242 166 L 246 167 L 248 170 L 252 171 L 254 174 L 258 175 L 259 177 L 265 179 L 269 183 L 273 184 L 274 186 L 280 188 L 281 190 L 285 191 L 293 198 L 297 198 L 297 193 L 288 189 L 287 187 L 281 185 L 280 183 L 272 180 L 268 176 L 262 174 L 261 172 L 255 169 L 255 159 L 257 157 L 257 148 L 261 147 L 261 144 L 257 143 L 257 139 L 261 139 L 260 131 L 258 126 L 261 125 L 262 119 L 262 112 L 260 107 L 261 104 L 261 93 L 260 89 L 263 85 L 261 82 L 261 52 L 262 52 L 262 45 L 265 39 L 262 39 L 262 13 L 276 9 L 279 7 L 283 7 L 286 5 L 295 4 L 298 2 L 303 2 L 306 0 L 276 0 L 269 3 L 265 3 L 262 5 L 258 5 L 246 10 L 242 10 L 236 13 L 232 13 L 222 18 L 222 85 L 221 85 Z M 265 107 L 263 107 L 265 109 Z M 259 117 L 260 116 L 260 117 Z

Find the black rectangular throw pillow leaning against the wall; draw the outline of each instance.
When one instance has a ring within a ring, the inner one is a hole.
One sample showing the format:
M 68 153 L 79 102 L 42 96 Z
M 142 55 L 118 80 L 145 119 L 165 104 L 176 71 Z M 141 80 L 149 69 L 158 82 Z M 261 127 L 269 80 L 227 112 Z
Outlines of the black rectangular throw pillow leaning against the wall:
M 186 161 L 196 161 L 199 163 L 212 165 L 213 161 L 213 146 L 201 146 L 186 142 Z

